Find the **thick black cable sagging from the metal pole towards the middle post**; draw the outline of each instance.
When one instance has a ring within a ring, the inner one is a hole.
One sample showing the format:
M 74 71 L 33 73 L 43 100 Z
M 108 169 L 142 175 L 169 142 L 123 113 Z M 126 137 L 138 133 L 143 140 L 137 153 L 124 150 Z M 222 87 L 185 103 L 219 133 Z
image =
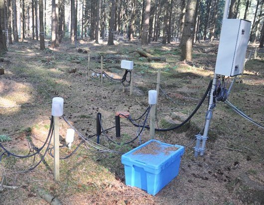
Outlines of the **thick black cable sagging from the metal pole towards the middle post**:
M 211 89 L 212 83 L 213 83 L 213 81 L 211 80 L 210 83 L 209 83 L 209 85 L 208 85 L 208 87 L 207 87 L 207 90 L 206 90 L 206 92 L 205 92 L 203 98 L 202 98 L 201 101 L 197 104 L 197 106 L 195 107 L 195 109 L 193 110 L 193 112 L 190 114 L 190 116 L 187 117 L 187 119 L 185 119 L 182 123 L 180 123 L 180 124 L 178 124 L 178 125 L 176 125 L 176 126 L 174 126 L 174 127 L 171 127 L 171 128 L 159 128 L 159 129 L 158 129 L 158 128 L 155 128 L 155 131 L 171 131 L 171 130 L 173 130 L 173 129 L 177 129 L 177 128 L 183 126 L 185 123 L 187 123 L 187 122 L 192 118 L 192 116 L 197 112 L 197 110 L 200 108 L 200 106 L 202 105 L 202 103 L 203 103 L 204 100 L 206 99 L 207 94 L 208 94 L 208 92 L 209 92 L 210 89 Z M 136 123 L 134 123 L 132 120 L 131 120 L 131 123 L 132 123 L 134 126 L 142 127 L 142 125 L 136 124 Z M 145 128 L 149 129 L 149 126 L 145 126 Z

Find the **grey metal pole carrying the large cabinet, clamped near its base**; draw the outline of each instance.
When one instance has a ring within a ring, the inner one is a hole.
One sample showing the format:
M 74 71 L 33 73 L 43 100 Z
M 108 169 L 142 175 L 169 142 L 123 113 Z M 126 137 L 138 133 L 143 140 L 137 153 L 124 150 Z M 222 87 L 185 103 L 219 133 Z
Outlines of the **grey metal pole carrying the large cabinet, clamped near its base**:
M 230 4 L 230 0 L 226 0 L 223 19 L 228 18 L 229 4 Z M 196 146 L 194 148 L 195 158 L 198 157 L 199 153 L 201 156 L 204 155 L 207 135 L 208 135 L 209 127 L 210 127 L 211 118 L 213 115 L 213 104 L 214 104 L 214 95 L 213 94 L 214 94 L 214 91 L 216 89 L 216 82 L 217 82 L 217 74 L 215 73 L 213 83 L 212 83 L 211 92 L 210 92 L 209 105 L 208 105 L 208 109 L 207 109 L 207 113 L 206 113 L 204 133 L 203 133 L 203 135 L 200 135 L 200 134 L 196 135 Z M 201 140 L 202 140 L 202 144 L 200 145 Z

